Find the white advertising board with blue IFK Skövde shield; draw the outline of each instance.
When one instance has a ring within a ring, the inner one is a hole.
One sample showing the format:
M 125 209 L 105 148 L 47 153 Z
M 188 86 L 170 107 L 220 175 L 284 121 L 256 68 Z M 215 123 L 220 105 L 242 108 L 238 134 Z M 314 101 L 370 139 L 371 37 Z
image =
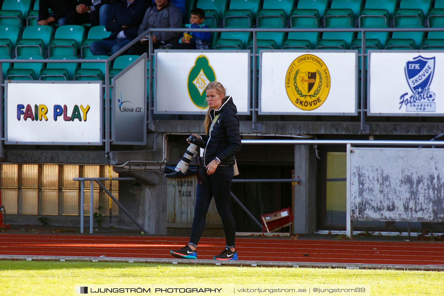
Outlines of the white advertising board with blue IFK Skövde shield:
M 444 52 L 369 51 L 369 56 L 369 115 L 444 114 Z

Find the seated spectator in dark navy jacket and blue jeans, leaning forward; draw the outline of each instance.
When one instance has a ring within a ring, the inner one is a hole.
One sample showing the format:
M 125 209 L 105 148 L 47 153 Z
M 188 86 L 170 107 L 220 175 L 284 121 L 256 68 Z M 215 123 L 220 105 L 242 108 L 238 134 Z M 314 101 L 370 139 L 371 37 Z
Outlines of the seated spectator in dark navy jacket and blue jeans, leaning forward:
M 148 4 L 145 0 L 123 0 L 115 5 L 105 23 L 107 31 L 111 32 L 103 41 L 91 43 L 89 50 L 93 55 L 111 55 L 137 37 L 137 28 L 142 21 L 143 13 Z

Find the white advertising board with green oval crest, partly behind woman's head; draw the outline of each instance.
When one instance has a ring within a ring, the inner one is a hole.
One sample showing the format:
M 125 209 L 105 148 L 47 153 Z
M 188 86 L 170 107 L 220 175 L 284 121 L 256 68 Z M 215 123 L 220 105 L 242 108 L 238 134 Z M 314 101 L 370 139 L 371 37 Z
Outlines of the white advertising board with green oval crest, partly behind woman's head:
M 218 81 L 238 114 L 250 114 L 250 51 L 155 51 L 155 113 L 205 114 L 205 87 Z

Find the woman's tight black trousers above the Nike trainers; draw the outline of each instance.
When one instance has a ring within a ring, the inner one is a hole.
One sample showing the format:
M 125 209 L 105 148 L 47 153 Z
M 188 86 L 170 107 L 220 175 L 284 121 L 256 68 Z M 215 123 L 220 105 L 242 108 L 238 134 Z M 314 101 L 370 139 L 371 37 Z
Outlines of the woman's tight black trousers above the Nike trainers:
M 206 169 L 205 170 L 206 174 Z M 197 247 L 203 229 L 205 228 L 206 212 L 210 201 L 214 196 L 216 209 L 222 219 L 225 232 L 226 248 L 234 248 L 234 236 L 236 225 L 230 209 L 231 180 L 233 179 L 233 166 L 218 166 L 214 174 L 206 176 L 203 185 L 197 185 L 196 205 L 194 207 L 194 219 L 191 226 L 190 244 Z

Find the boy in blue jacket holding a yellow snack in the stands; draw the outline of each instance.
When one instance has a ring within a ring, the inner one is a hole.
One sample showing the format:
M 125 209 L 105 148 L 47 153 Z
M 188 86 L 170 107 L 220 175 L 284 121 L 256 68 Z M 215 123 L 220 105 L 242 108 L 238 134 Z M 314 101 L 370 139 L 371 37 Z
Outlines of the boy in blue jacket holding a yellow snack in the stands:
M 195 8 L 190 12 L 190 28 L 208 28 L 203 24 L 205 12 L 201 8 Z M 175 46 L 177 49 L 209 49 L 211 43 L 210 32 L 191 32 L 184 33 L 179 39 L 179 43 Z

